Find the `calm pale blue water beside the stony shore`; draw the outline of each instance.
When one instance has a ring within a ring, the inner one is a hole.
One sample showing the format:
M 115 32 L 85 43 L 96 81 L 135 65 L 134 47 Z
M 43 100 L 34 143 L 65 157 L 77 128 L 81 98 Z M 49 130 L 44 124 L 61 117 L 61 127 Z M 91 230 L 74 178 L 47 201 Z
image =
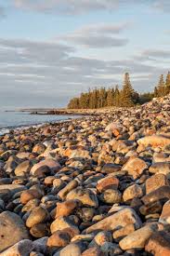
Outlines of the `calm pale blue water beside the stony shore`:
M 76 116 L 77 117 L 77 116 Z M 0 111 L 0 134 L 8 132 L 9 128 L 29 127 L 32 125 L 44 124 L 75 118 L 74 115 L 29 115 L 22 112 L 1 112 Z

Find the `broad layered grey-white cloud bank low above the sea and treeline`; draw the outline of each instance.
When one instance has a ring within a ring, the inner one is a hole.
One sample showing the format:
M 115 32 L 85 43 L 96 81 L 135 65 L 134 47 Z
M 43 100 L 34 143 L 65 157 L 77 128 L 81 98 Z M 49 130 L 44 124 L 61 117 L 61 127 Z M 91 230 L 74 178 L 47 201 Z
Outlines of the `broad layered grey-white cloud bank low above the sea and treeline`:
M 147 52 L 154 53 L 145 51 L 146 56 Z M 155 67 L 133 59 L 103 61 L 76 55 L 74 48 L 54 42 L 0 39 L 0 104 L 64 106 L 89 87 L 121 85 L 125 71 L 133 74 L 140 90 L 149 89 L 147 75 L 153 88 L 155 75 L 157 79 L 166 72 L 159 62 Z

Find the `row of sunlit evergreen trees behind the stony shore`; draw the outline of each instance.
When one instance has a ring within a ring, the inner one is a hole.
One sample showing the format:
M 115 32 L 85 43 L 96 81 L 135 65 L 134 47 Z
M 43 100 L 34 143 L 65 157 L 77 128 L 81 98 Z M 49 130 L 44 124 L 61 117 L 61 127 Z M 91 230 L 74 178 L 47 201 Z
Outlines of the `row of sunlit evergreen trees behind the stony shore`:
M 137 93 L 132 87 L 130 76 L 124 74 L 123 88 L 118 86 L 113 88 L 95 88 L 82 93 L 80 97 L 73 98 L 69 104 L 69 109 L 97 109 L 102 107 L 131 107 L 136 104 L 143 104 L 151 101 L 154 97 L 162 97 L 170 92 L 170 72 L 166 75 L 164 82 L 163 74 L 160 76 L 158 85 L 153 92 Z

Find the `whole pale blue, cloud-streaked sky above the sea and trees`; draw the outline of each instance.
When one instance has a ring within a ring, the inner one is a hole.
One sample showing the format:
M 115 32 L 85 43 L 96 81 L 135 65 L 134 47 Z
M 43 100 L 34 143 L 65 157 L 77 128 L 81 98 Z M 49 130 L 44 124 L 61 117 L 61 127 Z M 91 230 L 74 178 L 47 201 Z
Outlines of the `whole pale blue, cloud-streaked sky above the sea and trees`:
M 139 92 L 170 70 L 169 0 L 0 0 L 0 108 L 64 107 L 88 88 Z

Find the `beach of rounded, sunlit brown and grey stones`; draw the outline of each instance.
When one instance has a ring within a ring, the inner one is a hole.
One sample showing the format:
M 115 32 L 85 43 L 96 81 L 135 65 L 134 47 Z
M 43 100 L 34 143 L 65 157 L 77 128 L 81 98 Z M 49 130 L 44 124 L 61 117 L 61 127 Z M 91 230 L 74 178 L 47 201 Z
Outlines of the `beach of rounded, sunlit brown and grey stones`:
M 170 96 L 0 136 L 0 256 L 170 255 Z

